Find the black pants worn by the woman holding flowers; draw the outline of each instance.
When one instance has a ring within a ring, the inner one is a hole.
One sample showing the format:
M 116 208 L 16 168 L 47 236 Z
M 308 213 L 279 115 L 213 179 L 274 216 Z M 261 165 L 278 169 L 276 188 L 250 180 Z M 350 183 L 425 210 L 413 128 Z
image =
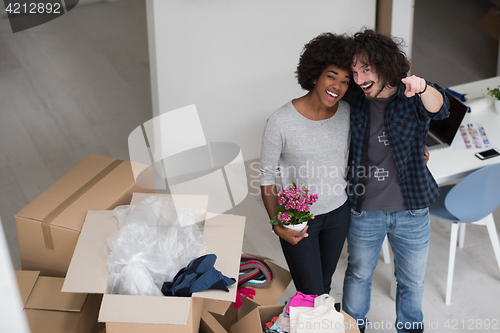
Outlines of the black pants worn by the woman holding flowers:
M 280 238 L 297 291 L 307 295 L 330 293 L 332 276 L 344 247 L 350 217 L 347 200 L 339 208 L 309 220 L 309 237 L 296 245 Z

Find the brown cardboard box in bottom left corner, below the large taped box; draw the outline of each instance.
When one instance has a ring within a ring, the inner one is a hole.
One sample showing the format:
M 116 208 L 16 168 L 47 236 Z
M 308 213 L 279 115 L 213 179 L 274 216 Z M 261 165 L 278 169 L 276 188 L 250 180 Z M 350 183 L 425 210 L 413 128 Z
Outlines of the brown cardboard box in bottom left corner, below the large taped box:
M 16 271 L 24 312 L 32 333 L 97 333 L 101 295 L 62 293 L 63 278 Z

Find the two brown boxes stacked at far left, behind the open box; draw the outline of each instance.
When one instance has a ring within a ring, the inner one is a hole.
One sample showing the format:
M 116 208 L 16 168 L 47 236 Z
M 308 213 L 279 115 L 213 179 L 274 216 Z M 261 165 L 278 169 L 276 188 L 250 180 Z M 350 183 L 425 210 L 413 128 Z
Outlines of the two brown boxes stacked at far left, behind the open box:
M 33 333 L 99 332 L 101 295 L 61 292 L 88 210 L 129 204 L 130 162 L 89 155 L 16 214 L 23 271 L 16 272 Z

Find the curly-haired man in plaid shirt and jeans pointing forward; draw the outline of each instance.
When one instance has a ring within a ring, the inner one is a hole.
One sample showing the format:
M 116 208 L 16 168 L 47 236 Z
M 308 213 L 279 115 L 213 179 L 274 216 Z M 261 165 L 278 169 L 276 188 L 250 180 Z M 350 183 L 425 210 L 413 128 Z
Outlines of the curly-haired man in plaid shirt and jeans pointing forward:
M 351 225 L 343 309 L 361 332 L 370 327 L 365 316 L 372 276 L 387 235 L 397 279 L 395 328 L 423 332 L 428 207 L 439 195 L 425 164 L 425 139 L 430 119 L 448 116 L 449 102 L 430 82 L 407 77 L 410 63 L 393 38 L 358 32 L 350 53 L 362 93 L 351 101 Z

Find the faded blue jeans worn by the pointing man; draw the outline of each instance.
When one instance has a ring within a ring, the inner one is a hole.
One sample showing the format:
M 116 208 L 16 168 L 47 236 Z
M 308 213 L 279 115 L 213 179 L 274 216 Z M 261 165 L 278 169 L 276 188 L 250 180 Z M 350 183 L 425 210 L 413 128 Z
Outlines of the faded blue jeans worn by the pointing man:
M 368 323 L 365 316 L 370 310 L 373 271 L 386 234 L 394 253 L 397 280 L 396 329 L 400 333 L 423 329 L 422 298 L 430 239 L 428 208 L 361 213 L 351 210 L 342 308 L 358 320 L 360 327 Z

